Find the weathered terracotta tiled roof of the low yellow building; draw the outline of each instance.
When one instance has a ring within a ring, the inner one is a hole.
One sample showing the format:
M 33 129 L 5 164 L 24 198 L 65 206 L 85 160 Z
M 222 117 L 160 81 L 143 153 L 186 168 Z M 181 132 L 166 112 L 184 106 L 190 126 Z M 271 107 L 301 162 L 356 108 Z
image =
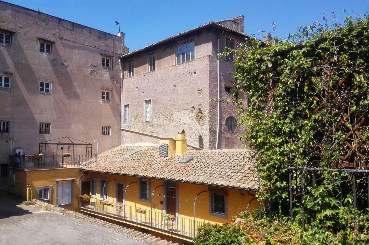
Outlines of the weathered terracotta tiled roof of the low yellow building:
M 138 152 L 123 157 L 131 151 Z M 99 162 L 84 166 L 82 170 L 247 190 L 258 188 L 258 179 L 252 172 L 250 152 L 247 149 L 188 150 L 180 156 L 152 156 L 158 151 L 158 145 L 121 145 L 102 153 L 99 155 Z M 193 160 L 179 163 L 188 157 Z

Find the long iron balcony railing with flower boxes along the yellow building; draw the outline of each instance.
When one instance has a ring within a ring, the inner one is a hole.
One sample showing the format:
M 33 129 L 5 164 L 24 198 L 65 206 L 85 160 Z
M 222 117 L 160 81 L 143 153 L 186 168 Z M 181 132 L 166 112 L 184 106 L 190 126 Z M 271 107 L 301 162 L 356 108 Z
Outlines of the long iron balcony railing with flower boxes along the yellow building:
M 198 220 L 173 215 L 168 217 L 169 215 L 165 215 L 160 211 L 111 203 L 96 198 L 79 199 L 79 207 L 93 213 L 104 214 L 122 221 L 131 221 L 189 238 L 193 238 L 196 235 L 197 227 L 205 224 L 205 222 Z

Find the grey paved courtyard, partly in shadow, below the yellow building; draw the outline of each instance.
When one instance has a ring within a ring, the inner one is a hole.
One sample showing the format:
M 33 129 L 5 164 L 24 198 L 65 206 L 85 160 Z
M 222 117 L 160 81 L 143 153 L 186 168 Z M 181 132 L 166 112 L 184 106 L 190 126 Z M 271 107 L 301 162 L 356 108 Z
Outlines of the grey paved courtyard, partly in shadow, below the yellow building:
M 16 197 L 3 194 L 0 198 L 0 244 L 145 243 L 75 218 L 23 206 Z

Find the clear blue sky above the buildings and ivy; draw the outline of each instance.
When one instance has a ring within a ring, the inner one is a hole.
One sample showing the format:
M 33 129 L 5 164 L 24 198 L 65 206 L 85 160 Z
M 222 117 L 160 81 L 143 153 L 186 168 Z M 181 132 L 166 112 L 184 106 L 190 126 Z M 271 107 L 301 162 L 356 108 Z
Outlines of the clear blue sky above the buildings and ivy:
M 125 32 L 125 45 L 130 51 L 142 48 L 161 39 L 189 30 L 209 21 L 245 16 L 245 33 L 270 31 L 285 38 L 297 27 L 322 21 L 331 11 L 336 18 L 344 17 L 343 10 L 356 14 L 369 12 L 369 0 L 8 0 L 10 3 L 45 11 L 66 20 L 116 34 Z M 342 19 L 341 19 L 342 20 Z

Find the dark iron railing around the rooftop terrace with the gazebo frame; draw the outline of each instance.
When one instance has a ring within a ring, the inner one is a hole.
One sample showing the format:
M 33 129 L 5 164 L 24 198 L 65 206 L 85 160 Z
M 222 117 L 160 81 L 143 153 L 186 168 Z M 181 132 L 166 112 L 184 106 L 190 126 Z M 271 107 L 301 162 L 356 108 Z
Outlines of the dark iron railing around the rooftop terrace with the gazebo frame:
M 15 169 L 57 169 L 79 168 L 96 162 L 95 155 L 10 155 L 10 168 Z

